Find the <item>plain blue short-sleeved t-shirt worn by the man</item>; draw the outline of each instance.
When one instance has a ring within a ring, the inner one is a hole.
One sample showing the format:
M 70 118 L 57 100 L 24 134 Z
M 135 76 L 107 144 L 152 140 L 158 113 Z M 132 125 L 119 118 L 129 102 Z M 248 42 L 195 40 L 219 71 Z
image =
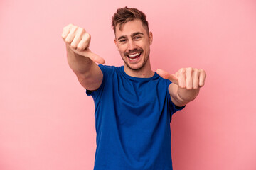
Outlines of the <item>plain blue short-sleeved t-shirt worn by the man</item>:
M 171 170 L 171 115 L 178 108 L 171 81 L 154 74 L 130 77 L 124 67 L 99 65 L 103 73 L 95 101 L 97 149 L 94 170 Z

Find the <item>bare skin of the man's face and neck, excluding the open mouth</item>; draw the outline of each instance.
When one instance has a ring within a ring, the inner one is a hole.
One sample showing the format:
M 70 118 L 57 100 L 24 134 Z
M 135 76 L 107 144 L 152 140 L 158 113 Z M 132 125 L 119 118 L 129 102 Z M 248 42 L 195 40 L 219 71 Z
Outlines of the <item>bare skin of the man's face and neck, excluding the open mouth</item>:
M 139 20 L 124 23 L 122 29 L 117 25 L 114 43 L 124 60 L 124 72 L 132 77 L 152 77 L 149 53 L 153 41 L 153 34 L 147 33 Z M 129 60 L 127 55 L 141 53 L 138 60 Z

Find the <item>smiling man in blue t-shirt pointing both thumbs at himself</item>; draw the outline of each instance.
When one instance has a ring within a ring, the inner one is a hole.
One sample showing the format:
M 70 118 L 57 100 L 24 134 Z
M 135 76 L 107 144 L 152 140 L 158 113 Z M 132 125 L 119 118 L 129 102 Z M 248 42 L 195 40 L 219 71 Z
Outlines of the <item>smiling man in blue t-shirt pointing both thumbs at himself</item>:
M 112 26 L 122 67 L 102 65 L 105 60 L 89 50 L 90 34 L 83 28 L 70 24 L 62 35 L 68 64 L 95 101 L 94 169 L 171 170 L 171 115 L 196 98 L 206 73 L 193 68 L 153 72 L 153 35 L 136 8 L 119 8 Z

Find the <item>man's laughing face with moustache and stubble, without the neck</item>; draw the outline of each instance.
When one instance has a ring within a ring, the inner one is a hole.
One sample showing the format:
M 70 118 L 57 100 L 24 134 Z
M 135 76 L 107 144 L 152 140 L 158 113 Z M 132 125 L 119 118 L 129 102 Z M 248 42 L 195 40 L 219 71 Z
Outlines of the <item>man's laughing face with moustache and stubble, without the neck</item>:
M 142 21 L 134 20 L 124 23 L 122 30 L 117 25 L 114 42 L 117 50 L 129 69 L 139 70 L 149 64 L 150 45 L 152 33 L 147 33 Z

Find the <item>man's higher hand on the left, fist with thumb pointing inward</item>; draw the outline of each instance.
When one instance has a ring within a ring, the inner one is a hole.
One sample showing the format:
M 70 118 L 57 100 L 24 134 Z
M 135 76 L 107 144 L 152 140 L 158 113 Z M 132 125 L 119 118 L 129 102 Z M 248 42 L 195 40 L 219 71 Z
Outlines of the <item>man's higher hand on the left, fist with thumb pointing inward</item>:
M 93 62 L 104 64 L 105 60 L 90 51 L 90 34 L 84 28 L 69 24 L 63 28 L 62 38 L 75 54 L 89 57 Z

